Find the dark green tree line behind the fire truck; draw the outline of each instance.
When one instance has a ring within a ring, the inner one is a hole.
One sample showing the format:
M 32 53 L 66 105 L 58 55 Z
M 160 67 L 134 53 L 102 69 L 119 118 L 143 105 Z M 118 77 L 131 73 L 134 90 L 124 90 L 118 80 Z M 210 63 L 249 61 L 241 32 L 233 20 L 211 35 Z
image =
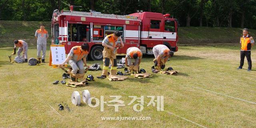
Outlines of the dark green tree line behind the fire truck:
M 180 26 L 256 29 L 256 0 L 0 0 L 0 20 L 50 21 L 53 10 L 170 14 Z

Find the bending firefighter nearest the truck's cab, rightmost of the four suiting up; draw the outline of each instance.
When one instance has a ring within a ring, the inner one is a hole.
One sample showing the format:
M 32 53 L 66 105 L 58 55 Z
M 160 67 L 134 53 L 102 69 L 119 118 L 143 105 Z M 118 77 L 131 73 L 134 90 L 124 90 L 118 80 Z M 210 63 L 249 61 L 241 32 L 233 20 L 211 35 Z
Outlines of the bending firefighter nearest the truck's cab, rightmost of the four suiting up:
M 153 54 L 155 56 L 154 66 L 158 70 L 164 69 L 168 58 L 173 56 L 173 52 L 167 46 L 162 44 L 153 47 Z

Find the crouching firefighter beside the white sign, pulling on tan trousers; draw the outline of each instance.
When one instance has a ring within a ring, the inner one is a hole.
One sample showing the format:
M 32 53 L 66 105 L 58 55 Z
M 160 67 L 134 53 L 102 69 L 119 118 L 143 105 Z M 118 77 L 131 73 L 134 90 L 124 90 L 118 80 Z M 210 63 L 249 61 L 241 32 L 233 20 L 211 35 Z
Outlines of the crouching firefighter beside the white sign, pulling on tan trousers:
M 86 64 L 86 56 L 88 55 L 89 46 L 87 43 L 83 43 L 81 46 L 74 46 L 71 48 L 66 60 L 59 66 L 63 66 L 67 62 L 72 67 L 72 71 L 69 72 L 70 77 L 77 79 L 84 78 L 84 66 L 88 67 Z M 78 70 L 79 69 L 79 70 Z

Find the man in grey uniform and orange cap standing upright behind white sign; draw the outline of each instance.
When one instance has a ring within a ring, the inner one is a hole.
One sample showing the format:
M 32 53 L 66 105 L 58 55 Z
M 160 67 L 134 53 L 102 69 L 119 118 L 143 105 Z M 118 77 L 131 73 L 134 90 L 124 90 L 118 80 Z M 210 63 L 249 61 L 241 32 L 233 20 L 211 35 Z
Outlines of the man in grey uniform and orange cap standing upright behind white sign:
M 41 51 L 43 52 L 42 62 L 45 63 L 46 54 L 46 42 L 49 37 L 48 32 L 44 29 L 45 25 L 41 24 L 40 29 L 36 30 L 35 38 L 37 39 L 37 57 L 41 56 Z

